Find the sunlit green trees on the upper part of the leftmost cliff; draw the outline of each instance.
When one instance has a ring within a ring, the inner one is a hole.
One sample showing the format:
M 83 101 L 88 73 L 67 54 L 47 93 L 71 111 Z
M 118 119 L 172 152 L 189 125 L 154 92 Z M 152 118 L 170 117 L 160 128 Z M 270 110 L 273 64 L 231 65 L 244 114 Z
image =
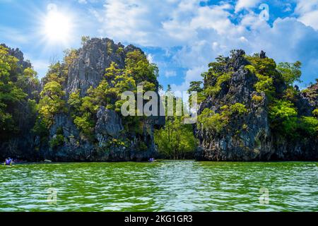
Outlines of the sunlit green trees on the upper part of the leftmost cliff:
M 25 121 L 32 123 L 38 84 L 37 73 L 31 68 L 23 69 L 18 59 L 0 45 L 0 138 L 21 133 Z

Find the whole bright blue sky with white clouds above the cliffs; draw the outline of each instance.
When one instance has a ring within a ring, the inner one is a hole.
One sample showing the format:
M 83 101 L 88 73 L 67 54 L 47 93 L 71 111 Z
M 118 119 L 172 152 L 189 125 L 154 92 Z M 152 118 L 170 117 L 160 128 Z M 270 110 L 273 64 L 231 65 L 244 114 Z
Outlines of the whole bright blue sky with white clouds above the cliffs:
M 260 18 L 261 4 L 269 20 Z M 47 29 L 52 10 L 65 30 L 58 40 Z M 0 12 L 0 42 L 21 49 L 40 78 L 83 35 L 141 47 L 173 90 L 187 90 L 208 62 L 238 48 L 302 61 L 301 87 L 318 78 L 318 0 L 0 0 Z

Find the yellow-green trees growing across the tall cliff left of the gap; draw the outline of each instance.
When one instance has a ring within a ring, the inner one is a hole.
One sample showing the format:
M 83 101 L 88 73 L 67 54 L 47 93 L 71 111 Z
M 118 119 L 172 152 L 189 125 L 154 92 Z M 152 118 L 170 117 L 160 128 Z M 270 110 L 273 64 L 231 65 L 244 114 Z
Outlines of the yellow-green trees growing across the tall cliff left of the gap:
M 87 40 L 84 39 L 83 42 L 87 42 Z M 107 52 L 108 48 L 107 45 Z M 120 112 L 124 102 L 121 100 L 121 95 L 125 91 L 132 91 L 136 95 L 137 85 L 143 85 L 143 92 L 158 89 L 157 66 L 149 63 L 145 54 L 136 49 L 126 53 L 124 69 L 119 69 L 119 66 L 112 62 L 110 67 L 105 69 L 105 75 L 100 83 L 96 87 L 91 86 L 85 95 L 80 94 L 81 90 L 66 94 L 64 86 L 68 70 L 77 57 L 77 50 L 66 51 L 64 61 L 52 64 L 42 80 L 44 87 L 40 93 L 39 117 L 34 128 L 34 131 L 41 136 L 42 141 L 47 141 L 47 131 L 54 124 L 54 117 L 64 113 L 71 115 L 73 123 L 81 132 L 82 139 L 95 143 L 97 141 L 94 129 L 100 107 Z M 145 120 L 144 117 L 124 117 L 122 119 L 124 126 L 122 133 L 143 133 Z M 54 136 L 52 141 L 49 141 L 52 148 L 63 145 L 62 134 L 63 131 Z M 115 140 L 117 141 L 117 139 Z M 126 141 L 119 141 L 119 143 L 124 142 Z M 139 143 L 141 149 L 147 147 L 141 141 Z

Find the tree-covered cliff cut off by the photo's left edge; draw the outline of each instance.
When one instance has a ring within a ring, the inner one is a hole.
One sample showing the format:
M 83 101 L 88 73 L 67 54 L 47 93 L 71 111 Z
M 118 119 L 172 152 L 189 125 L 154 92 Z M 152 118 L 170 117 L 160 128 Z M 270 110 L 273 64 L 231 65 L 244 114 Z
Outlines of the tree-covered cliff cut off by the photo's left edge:
M 0 157 L 34 156 L 35 105 L 40 83 L 20 49 L 0 44 Z

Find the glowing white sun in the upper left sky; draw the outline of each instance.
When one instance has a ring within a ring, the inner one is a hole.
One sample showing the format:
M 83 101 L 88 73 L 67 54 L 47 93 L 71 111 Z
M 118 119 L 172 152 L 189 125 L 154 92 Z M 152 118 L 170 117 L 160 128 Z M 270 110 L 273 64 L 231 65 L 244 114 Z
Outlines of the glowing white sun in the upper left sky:
M 48 8 L 43 20 L 42 33 L 49 44 L 66 45 L 71 39 L 72 19 L 66 13 L 58 11 L 57 7 Z

